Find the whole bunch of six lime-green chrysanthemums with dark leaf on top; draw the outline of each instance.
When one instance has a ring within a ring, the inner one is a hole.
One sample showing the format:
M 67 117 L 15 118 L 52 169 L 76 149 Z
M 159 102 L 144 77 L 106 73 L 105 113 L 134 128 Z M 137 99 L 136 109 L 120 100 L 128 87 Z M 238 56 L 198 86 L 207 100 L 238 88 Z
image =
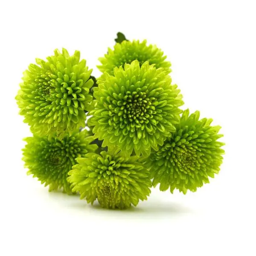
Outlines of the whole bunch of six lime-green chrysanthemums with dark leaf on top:
M 23 149 L 28 174 L 109 209 L 136 206 L 157 184 L 186 194 L 209 183 L 223 160 L 221 127 L 180 109 L 163 52 L 118 33 L 99 60 L 98 79 L 66 49 L 24 72 L 16 99 L 33 133 Z

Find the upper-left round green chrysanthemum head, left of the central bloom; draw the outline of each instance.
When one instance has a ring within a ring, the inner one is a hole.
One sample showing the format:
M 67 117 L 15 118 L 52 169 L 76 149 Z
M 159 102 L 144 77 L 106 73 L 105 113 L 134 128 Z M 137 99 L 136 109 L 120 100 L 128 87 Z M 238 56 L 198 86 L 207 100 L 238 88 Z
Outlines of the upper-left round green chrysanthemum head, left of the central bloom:
M 38 65 L 30 64 L 23 73 L 16 99 L 33 133 L 62 137 L 84 127 L 93 81 L 89 79 L 92 70 L 79 59 L 79 51 L 70 56 L 66 49 L 62 53 L 56 49 L 54 56 L 47 61 L 36 59 Z

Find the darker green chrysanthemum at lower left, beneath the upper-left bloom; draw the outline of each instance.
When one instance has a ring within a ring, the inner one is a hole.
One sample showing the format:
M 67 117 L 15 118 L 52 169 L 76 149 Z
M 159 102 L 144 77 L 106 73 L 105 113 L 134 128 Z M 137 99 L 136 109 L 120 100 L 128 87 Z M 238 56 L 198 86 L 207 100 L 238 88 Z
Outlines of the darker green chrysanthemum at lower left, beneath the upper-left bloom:
M 62 140 L 56 137 L 27 137 L 27 144 L 23 149 L 25 167 L 28 175 L 37 177 L 49 191 L 63 188 L 70 194 L 70 184 L 67 182 L 67 173 L 76 164 L 76 157 L 84 157 L 88 152 L 94 152 L 97 145 L 89 145 L 93 137 L 88 136 L 87 130 L 73 133 Z

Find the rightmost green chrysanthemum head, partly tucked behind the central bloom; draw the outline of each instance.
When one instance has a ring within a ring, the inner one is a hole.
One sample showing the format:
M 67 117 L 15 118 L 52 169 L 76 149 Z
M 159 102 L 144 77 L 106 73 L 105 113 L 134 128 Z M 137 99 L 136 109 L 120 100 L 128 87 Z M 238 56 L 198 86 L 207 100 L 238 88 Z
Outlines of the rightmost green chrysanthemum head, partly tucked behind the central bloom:
M 153 186 L 160 183 L 160 190 L 170 187 L 171 192 L 179 189 L 195 192 L 208 177 L 218 173 L 222 163 L 224 143 L 218 141 L 220 126 L 210 126 L 212 119 L 199 120 L 199 111 L 189 116 L 189 110 L 183 112 L 176 131 L 167 139 L 158 151 L 152 152 L 147 160 Z

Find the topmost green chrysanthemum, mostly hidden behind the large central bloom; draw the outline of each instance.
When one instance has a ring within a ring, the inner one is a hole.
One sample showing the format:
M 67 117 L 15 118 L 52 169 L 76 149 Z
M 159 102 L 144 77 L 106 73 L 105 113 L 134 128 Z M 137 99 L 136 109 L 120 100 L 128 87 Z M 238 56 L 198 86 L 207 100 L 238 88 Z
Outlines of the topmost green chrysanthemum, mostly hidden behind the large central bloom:
M 145 61 L 149 64 L 155 64 L 156 68 L 162 67 L 167 73 L 171 72 L 171 63 L 165 61 L 166 56 L 163 56 L 163 52 L 157 48 L 155 45 L 147 46 L 147 41 L 122 41 L 121 44 L 117 43 L 114 49 L 108 49 L 108 54 L 105 57 L 99 58 L 102 63 L 98 66 L 99 70 L 104 73 L 107 72 L 113 75 L 113 69 L 115 67 L 124 67 L 125 63 L 131 64 L 132 61 L 137 60 L 140 66 Z

